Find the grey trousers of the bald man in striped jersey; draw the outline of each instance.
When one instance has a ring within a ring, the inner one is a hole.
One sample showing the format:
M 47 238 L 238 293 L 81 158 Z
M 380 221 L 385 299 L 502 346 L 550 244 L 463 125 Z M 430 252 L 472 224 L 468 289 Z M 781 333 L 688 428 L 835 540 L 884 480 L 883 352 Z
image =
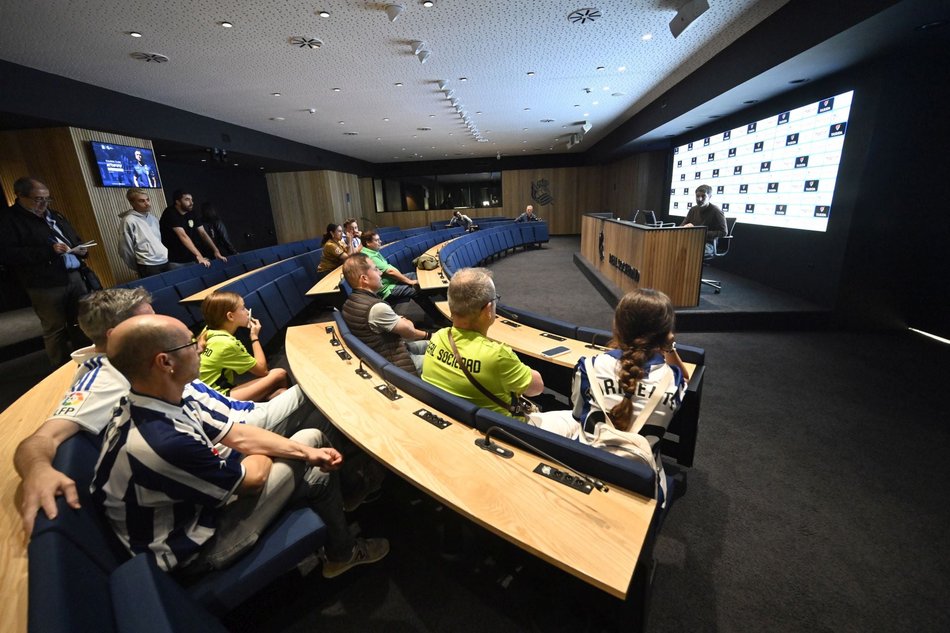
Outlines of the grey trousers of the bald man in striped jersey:
M 318 429 L 298 431 L 291 439 L 314 448 L 330 445 Z M 187 566 L 187 572 L 228 567 L 254 547 L 267 527 L 296 500 L 305 501 L 326 523 L 327 556 L 349 559 L 355 537 L 347 527 L 336 473 L 321 473 L 319 468 L 307 466 L 299 459 L 278 458 L 264 490 L 240 496 L 221 509 L 215 534 L 202 546 L 199 557 Z

